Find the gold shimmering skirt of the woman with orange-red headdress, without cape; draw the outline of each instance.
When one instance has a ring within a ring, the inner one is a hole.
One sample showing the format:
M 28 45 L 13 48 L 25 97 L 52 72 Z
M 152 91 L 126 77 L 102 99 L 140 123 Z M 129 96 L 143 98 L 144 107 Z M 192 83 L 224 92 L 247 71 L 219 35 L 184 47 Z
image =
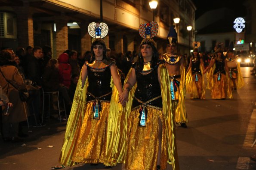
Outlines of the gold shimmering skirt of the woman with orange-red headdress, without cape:
M 158 136 L 161 140 L 161 169 L 167 167 L 167 137 L 162 110 L 147 107 L 146 126 L 139 126 L 139 109 L 133 110 L 128 118 L 126 170 L 156 170 L 159 150 Z M 159 125 L 162 124 L 162 134 Z

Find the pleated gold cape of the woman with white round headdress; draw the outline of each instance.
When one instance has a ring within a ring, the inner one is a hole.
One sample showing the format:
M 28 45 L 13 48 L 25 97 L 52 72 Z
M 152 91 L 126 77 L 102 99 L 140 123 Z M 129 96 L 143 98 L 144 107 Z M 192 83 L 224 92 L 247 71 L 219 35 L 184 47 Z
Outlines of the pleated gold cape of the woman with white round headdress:
M 121 116 L 122 107 L 118 103 L 118 91 L 114 86 L 111 78 L 112 96 L 110 101 L 110 111 L 108 115 L 107 129 L 107 153 L 104 164 L 106 166 L 114 166 L 117 162 L 123 163 L 125 153 L 126 134 L 123 123 L 126 123 L 125 117 Z M 66 166 L 78 164 L 72 161 L 74 149 L 82 126 L 85 114 L 84 108 L 86 104 L 86 91 L 88 87 L 88 78 L 86 78 L 85 86 L 82 89 L 81 73 L 77 88 L 74 95 L 71 112 L 68 118 L 63 146 L 59 158 L 59 162 Z

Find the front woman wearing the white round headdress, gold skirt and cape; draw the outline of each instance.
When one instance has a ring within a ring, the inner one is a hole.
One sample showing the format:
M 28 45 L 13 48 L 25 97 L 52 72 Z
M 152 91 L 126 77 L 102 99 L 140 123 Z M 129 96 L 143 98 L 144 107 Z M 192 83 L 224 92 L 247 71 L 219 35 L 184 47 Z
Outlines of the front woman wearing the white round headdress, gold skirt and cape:
M 93 22 L 88 32 L 95 38 L 92 56 L 80 73 L 59 161 L 67 166 L 104 163 L 104 168 L 110 168 L 124 161 L 124 120 L 118 103 L 123 90 L 117 66 L 108 58 L 102 39 L 108 26 Z

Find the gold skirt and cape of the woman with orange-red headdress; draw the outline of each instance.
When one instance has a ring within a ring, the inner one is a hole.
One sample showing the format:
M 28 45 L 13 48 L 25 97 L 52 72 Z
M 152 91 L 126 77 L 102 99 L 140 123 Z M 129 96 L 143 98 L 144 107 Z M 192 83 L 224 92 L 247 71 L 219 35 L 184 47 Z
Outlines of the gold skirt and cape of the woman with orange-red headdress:
M 173 170 L 179 170 L 179 161 L 176 147 L 175 123 L 172 113 L 170 98 L 170 81 L 164 64 L 160 64 L 160 89 L 162 108 L 147 106 L 148 117 L 146 126 L 139 126 L 139 108 L 133 108 L 132 103 L 137 83 L 129 92 L 129 100 L 126 104 L 125 115 L 128 119 L 126 170 L 155 170 L 159 149 L 159 135 L 161 140 L 161 170 L 165 169 L 167 163 L 172 164 Z M 130 69 L 126 81 L 129 78 Z M 125 81 L 125 82 L 126 82 Z M 132 111 L 131 111 L 132 110 Z M 162 133 L 159 127 L 162 125 Z

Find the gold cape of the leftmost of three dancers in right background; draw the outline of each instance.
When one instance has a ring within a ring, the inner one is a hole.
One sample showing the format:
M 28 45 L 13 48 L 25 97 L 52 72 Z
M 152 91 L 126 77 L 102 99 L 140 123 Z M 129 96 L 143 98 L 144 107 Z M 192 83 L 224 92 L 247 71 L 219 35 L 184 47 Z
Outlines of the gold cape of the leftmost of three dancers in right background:
M 205 96 L 205 86 L 204 86 L 204 75 L 203 75 L 204 70 L 201 64 L 200 64 L 200 71 L 202 73 L 202 95 L 201 96 L 203 97 Z M 188 73 L 186 75 L 186 92 L 197 95 L 199 98 L 201 98 L 201 96 L 198 95 L 197 86 L 193 81 L 192 68 L 188 70 Z

